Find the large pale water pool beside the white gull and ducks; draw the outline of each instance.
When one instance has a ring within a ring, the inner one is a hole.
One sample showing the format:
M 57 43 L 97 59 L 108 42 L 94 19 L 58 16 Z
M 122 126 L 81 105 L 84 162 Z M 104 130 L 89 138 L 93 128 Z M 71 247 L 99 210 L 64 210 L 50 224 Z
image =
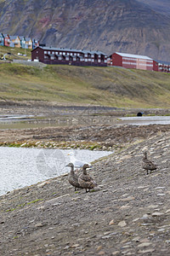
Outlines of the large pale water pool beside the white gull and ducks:
M 65 165 L 70 162 L 70 151 L 78 160 L 88 162 L 111 154 L 84 149 L 0 148 L 0 195 L 69 172 Z

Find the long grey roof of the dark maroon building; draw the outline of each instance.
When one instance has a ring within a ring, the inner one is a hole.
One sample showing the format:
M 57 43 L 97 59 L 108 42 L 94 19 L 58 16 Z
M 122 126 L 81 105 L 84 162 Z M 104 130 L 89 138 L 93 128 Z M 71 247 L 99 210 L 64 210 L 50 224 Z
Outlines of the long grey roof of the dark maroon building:
M 87 50 L 87 49 L 68 49 L 68 48 L 54 48 L 54 47 L 47 47 L 47 46 L 38 46 L 39 48 L 45 49 L 45 50 L 65 50 L 67 52 L 77 52 L 77 53 L 83 53 L 83 54 L 91 54 L 91 55 L 106 55 L 105 53 L 98 51 L 98 50 Z

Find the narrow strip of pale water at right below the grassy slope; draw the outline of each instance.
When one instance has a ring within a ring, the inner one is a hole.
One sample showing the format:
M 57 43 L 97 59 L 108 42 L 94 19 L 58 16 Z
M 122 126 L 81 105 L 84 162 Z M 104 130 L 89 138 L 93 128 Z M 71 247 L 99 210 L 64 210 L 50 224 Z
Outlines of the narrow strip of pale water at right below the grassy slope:
M 122 117 L 120 125 L 170 125 L 170 116 Z

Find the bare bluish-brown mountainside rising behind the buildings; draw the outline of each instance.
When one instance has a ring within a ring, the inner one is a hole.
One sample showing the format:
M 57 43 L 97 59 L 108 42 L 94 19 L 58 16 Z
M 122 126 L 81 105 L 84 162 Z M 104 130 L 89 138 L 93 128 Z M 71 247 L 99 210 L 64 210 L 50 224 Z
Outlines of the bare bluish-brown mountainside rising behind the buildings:
M 0 0 L 0 32 L 170 61 L 169 0 Z

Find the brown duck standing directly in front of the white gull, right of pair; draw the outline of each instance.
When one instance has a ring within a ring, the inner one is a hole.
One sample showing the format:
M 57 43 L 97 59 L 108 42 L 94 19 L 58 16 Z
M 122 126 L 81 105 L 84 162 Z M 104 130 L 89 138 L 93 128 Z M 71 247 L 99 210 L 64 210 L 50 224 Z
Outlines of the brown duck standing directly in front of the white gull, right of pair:
M 85 164 L 82 166 L 82 174 L 78 177 L 78 183 L 82 189 L 86 189 L 86 192 L 89 192 L 90 189 L 94 189 L 97 186 L 97 183 L 94 181 L 93 177 L 90 177 L 86 171 L 90 166 Z M 88 190 L 87 190 L 88 189 Z

